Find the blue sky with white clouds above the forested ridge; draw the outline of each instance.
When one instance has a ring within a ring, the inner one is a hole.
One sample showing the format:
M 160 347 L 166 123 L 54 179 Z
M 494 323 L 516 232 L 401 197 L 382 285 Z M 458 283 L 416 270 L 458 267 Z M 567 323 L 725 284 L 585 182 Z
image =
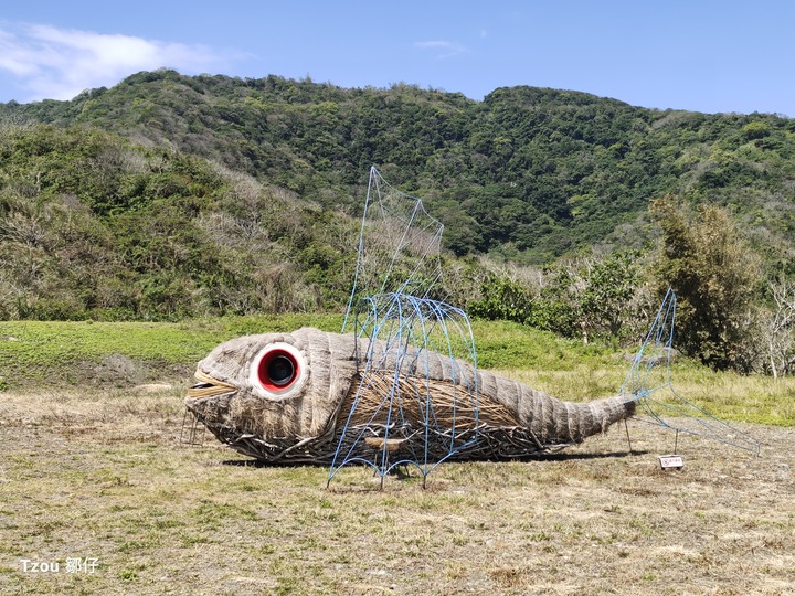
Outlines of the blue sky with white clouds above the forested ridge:
M 68 99 L 172 67 L 795 117 L 794 23 L 791 0 L 4 2 L 0 102 Z

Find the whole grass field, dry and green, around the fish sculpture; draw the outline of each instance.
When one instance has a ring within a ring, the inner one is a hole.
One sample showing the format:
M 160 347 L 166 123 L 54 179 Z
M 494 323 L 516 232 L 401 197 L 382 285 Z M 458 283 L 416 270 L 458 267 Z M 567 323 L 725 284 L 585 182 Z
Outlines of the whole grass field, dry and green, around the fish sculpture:
M 254 467 L 180 441 L 197 360 L 335 317 L 0 323 L 2 594 L 795 592 L 795 383 L 676 365 L 761 457 L 630 422 L 555 455 L 416 472 Z M 479 363 L 561 397 L 614 392 L 624 354 L 477 323 Z M 157 384 L 153 384 L 157 383 Z M 51 570 L 57 565 L 57 571 Z

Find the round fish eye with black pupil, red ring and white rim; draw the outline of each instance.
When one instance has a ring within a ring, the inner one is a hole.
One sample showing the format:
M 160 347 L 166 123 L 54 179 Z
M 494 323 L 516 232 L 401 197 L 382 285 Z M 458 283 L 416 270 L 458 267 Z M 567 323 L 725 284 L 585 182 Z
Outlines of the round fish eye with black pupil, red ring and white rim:
M 280 400 L 304 384 L 306 373 L 301 353 L 289 343 L 278 342 L 254 358 L 248 379 L 266 397 Z

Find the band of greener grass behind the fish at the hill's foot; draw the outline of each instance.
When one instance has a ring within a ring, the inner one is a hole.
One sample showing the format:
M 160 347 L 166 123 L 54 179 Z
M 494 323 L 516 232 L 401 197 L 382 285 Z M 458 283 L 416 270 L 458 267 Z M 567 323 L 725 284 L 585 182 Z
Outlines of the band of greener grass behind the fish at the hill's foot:
M 188 383 L 195 363 L 231 338 L 311 326 L 339 331 L 341 315 L 230 317 L 167 322 L 0 322 L 0 391 L 92 385 L 121 387 L 172 380 Z M 564 400 L 614 394 L 633 349 L 584 345 L 505 321 L 473 322 L 478 366 Z M 463 342 L 454 350 L 465 355 Z M 795 426 L 795 380 L 717 373 L 681 360 L 676 390 L 727 421 Z

